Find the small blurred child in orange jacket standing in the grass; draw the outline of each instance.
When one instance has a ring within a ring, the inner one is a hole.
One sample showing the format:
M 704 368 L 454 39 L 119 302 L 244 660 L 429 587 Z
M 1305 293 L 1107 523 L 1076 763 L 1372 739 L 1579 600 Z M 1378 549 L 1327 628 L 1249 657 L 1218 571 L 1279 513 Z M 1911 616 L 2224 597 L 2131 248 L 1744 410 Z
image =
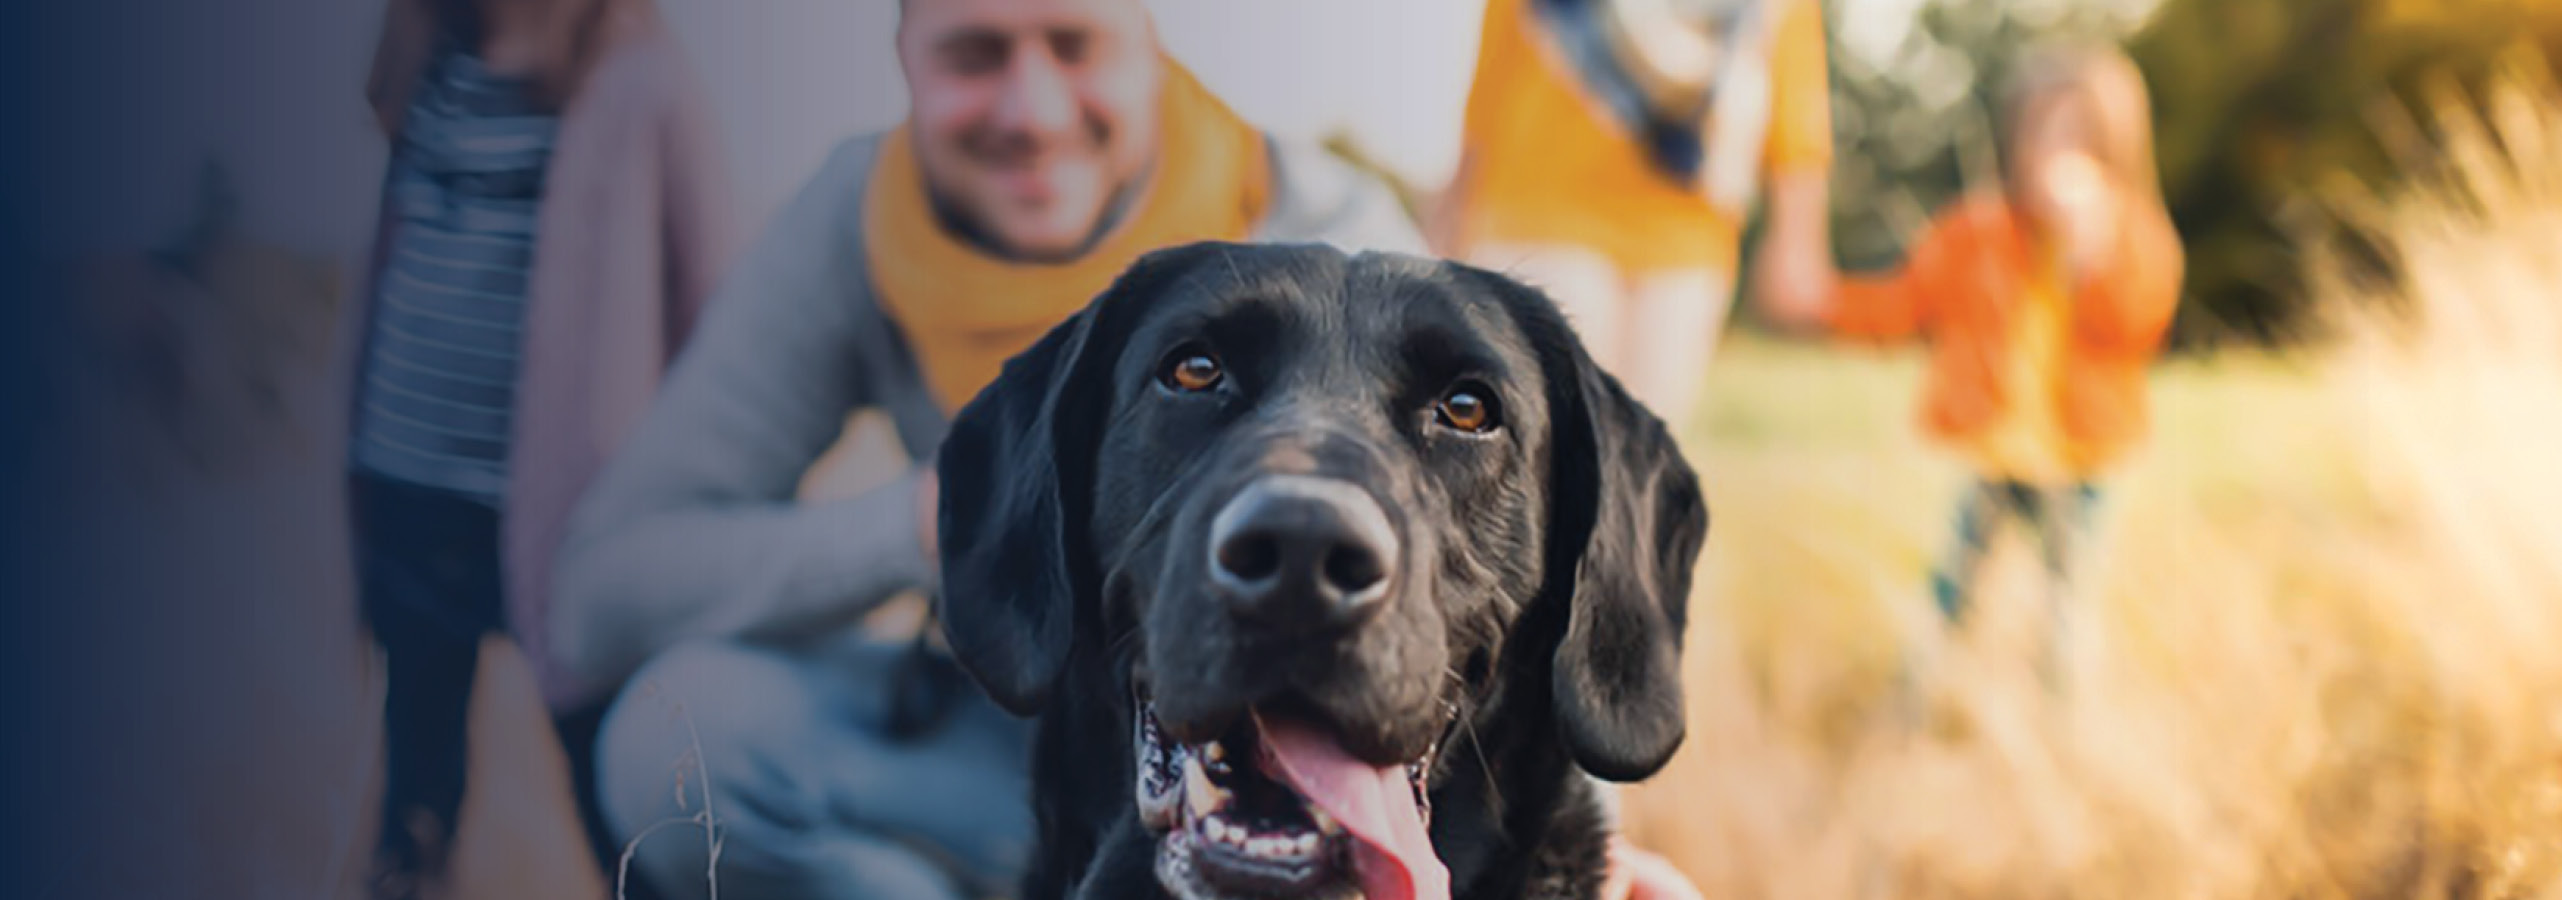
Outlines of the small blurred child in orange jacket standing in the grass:
M 1850 336 L 1932 341 L 1924 428 L 1975 472 L 1934 600 L 1960 626 L 1991 536 L 2016 521 L 2044 559 L 2057 636 L 2047 674 L 2062 677 L 2062 600 L 2096 479 L 2144 433 L 2144 364 L 2178 303 L 2183 256 L 2126 56 L 2032 54 L 2003 113 L 2001 192 L 1952 203 L 1901 272 L 1842 285 L 1822 318 Z

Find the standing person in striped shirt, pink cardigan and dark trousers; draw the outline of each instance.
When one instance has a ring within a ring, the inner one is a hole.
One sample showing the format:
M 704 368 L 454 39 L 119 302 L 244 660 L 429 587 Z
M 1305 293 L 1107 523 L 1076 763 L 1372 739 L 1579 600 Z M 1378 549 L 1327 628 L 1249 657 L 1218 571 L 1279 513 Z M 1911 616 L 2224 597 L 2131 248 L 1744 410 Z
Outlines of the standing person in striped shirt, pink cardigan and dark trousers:
M 730 246 L 692 69 L 648 0 L 392 0 L 392 144 L 346 346 L 348 500 L 384 649 L 374 892 L 441 874 L 479 641 L 520 641 L 582 818 L 600 695 L 546 664 L 564 518 L 648 403 Z

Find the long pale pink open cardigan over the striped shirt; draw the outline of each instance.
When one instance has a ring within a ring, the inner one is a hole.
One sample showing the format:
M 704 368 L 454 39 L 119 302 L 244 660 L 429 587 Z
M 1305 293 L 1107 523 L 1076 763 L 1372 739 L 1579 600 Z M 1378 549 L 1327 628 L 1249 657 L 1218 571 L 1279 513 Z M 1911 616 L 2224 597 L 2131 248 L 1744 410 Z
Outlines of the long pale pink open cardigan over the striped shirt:
M 561 110 L 546 172 L 500 515 L 507 626 L 553 710 L 612 687 L 574 682 L 546 633 L 569 510 L 648 410 L 735 249 L 728 174 L 694 69 L 646 5 L 615 5 L 594 69 Z M 392 15 L 371 90 L 387 128 L 407 110 L 430 46 L 400 10 Z M 348 405 L 387 238 L 382 221 L 366 295 L 346 318 Z

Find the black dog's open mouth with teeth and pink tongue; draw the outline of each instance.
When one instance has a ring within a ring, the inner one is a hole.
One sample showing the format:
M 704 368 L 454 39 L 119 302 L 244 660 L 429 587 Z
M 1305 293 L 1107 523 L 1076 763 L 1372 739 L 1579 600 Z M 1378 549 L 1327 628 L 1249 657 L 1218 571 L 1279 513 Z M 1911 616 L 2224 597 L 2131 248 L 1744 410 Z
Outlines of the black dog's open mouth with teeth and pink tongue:
M 1138 710 L 1138 813 L 1163 836 L 1158 882 L 1181 900 L 1445 900 L 1424 831 L 1427 759 L 1373 767 L 1325 728 L 1248 715 L 1227 736 L 1173 744 Z

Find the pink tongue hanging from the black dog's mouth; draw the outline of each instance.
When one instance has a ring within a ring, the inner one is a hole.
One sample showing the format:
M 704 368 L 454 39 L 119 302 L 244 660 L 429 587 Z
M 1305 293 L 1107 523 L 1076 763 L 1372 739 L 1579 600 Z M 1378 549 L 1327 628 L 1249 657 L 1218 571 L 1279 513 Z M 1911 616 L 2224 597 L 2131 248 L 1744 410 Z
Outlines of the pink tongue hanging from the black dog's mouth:
M 1432 851 L 1432 833 L 1414 808 L 1404 767 L 1373 767 L 1342 751 L 1319 728 L 1255 715 L 1263 731 L 1263 774 L 1353 833 L 1353 869 L 1366 900 L 1450 900 L 1450 869 Z

